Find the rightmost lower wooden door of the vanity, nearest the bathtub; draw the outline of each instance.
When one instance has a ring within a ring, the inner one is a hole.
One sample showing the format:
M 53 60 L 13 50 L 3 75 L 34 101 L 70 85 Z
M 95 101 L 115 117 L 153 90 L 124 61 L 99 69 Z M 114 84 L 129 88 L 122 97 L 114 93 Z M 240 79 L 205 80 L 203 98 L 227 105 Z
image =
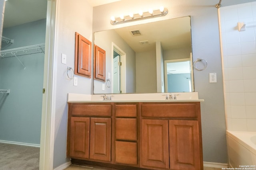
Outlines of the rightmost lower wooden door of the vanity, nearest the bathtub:
M 169 120 L 169 139 L 171 169 L 201 169 L 198 121 Z

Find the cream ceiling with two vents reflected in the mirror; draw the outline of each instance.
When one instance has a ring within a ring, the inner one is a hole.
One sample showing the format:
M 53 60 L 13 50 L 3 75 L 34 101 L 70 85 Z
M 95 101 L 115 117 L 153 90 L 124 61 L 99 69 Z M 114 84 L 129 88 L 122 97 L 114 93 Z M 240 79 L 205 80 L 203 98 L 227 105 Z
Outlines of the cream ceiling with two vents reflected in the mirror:
M 161 42 L 164 50 L 191 48 L 190 17 L 150 22 L 114 30 L 136 52 L 150 51 L 155 48 L 156 42 Z M 140 30 L 141 35 L 132 35 L 133 30 Z M 148 41 L 149 44 L 141 45 L 140 41 Z

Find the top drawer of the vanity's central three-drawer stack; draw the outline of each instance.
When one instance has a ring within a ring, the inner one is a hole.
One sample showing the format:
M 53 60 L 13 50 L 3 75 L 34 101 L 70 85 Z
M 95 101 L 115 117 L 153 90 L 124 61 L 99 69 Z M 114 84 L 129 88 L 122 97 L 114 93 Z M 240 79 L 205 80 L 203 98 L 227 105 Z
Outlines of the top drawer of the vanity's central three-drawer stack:
M 136 117 L 137 105 L 136 104 L 122 104 L 116 105 L 117 117 Z

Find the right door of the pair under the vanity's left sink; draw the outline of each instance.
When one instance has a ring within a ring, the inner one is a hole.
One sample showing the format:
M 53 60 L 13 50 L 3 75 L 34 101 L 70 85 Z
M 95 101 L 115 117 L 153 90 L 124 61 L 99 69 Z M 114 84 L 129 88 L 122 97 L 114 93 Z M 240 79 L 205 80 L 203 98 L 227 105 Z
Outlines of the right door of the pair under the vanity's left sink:
M 91 118 L 90 159 L 111 161 L 111 118 Z

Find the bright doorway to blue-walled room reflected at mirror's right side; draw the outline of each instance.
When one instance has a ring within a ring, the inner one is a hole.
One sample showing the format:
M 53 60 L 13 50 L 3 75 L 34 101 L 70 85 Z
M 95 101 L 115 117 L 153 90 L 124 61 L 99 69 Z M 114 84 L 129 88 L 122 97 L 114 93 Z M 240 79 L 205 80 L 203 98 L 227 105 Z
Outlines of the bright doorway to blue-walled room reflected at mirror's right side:
M 190 59 L 168 60 L 164 63 L 166 92 L 192 92 Z

